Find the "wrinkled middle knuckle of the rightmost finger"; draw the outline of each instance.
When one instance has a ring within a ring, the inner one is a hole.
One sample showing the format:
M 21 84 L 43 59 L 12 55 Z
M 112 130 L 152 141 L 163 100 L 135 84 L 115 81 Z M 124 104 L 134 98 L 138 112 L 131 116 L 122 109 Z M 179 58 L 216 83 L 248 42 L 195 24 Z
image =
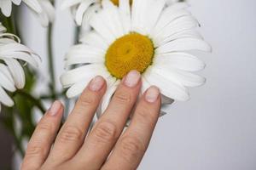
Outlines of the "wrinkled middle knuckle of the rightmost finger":
M 143 148 L 143 143 L 135 137 L 125 137 L 120 143 L 121 155 L 129 162 L 143 156 Z

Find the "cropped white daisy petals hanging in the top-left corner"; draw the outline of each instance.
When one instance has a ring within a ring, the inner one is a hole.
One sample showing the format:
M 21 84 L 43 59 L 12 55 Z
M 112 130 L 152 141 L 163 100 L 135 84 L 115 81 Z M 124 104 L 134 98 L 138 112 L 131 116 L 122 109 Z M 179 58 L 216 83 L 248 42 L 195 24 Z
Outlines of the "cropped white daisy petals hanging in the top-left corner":
M 9 17 L 12 12 L 12 3 L 20 5 L 21 1 L 32 9 L 42 26 L 48 26 L 49 22 L 55 20 L 55 8 L 50 3 L 50 0 L 1 0 L 0 9 L 6 17 Z

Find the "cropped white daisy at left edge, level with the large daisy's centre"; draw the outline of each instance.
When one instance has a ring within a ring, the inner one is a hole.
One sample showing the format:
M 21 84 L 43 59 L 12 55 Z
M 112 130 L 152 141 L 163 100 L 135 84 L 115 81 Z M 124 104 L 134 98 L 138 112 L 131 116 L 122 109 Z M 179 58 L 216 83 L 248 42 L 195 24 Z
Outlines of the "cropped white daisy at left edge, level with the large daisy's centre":
M 1 104 L 14 105 L 14 101 L 5 90 L 15 92 L 17 88 L 25 86 L 25 73 L 19 60 L 38 66 L 38 55 L 20 44 L 19 37 L 5 31 L 5 27 L 0 22 L 0 111 Z

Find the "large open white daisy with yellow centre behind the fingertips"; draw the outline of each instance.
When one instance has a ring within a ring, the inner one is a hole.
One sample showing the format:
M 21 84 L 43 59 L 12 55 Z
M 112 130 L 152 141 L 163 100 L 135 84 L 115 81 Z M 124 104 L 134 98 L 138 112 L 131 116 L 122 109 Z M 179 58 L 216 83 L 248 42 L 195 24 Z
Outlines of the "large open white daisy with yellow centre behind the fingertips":
M 166 0 L 133 0 L 130 7 L 128 0 L 120 0 L 117 7 L 102 0 L 102 10 L 90 20 L 93 30 L 66 55 L 67 67 L 78 66 L 61 76 L 67 97 L 81 94 L 91 78 L 101 75 L 107 79 L 108 90 L 100 116 L 120 79 L 137 70 L 143 77 L 141 93 L 155 85 L 160 88 L 163 105 L 188 100 L 188 87 L 206 81 L 192 73 L 204 69 L 205 64 L 188 52 L 210 52 L 211 47 L 195 31 L 199 23 L 186 9 L 187 3 L 165 5 Z

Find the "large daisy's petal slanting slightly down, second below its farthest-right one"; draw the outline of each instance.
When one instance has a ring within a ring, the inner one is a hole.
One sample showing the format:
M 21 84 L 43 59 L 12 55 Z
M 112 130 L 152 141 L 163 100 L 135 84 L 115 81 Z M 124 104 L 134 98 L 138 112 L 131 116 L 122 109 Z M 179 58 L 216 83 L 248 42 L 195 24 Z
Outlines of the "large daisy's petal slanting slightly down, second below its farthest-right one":
M 206 82 L 204 77 L 197 76 L 187 71 L 172 69 L 166 65 L 154 66 L 152 67 L 152 71 L 160 74 L 162 77 L 166 77 L 166 79 L 172 82 L 182 84 L 186 87 L 198 87 Z

